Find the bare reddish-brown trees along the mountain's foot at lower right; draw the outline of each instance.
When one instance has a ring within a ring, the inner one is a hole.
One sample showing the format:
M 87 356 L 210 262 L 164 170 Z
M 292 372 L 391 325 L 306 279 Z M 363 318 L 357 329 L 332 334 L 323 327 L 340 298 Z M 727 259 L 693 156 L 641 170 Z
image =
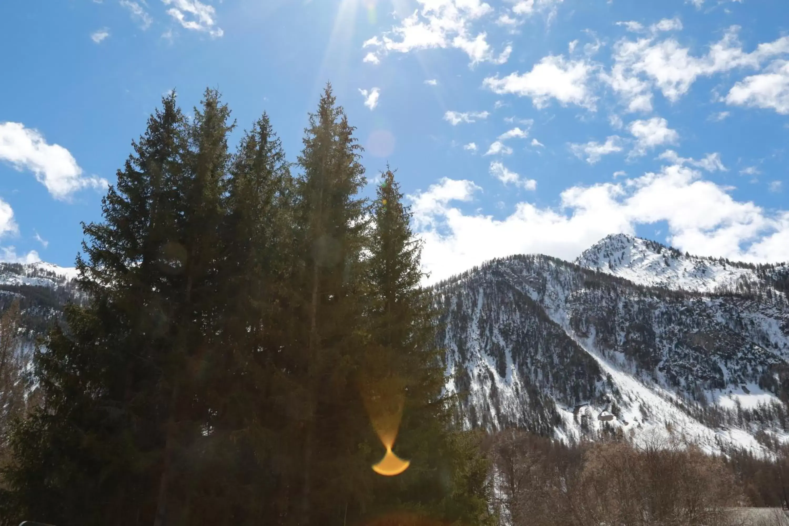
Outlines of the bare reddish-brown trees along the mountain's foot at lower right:
M 710 455 L 678 437 L 567 444 L 514 430 L 484 449 L 492 507 L 509 526 L 751 524 L 732 508 L 780 508 L 789 485 L 786 449 L 768 460 Z

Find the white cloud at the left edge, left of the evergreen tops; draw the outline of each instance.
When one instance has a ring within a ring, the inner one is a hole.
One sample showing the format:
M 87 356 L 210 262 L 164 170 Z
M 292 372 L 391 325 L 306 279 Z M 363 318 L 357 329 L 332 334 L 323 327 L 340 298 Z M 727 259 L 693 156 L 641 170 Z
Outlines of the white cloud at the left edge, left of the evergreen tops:
M 107 181 L 85 177 L 77 160 L 64 147 L 47 144 L 35 129 L 19 122 L 0 123 L 0 161 L 9 162 L 17 170 L 29 170 L 58 200 L 81 188 L 104 188 Z

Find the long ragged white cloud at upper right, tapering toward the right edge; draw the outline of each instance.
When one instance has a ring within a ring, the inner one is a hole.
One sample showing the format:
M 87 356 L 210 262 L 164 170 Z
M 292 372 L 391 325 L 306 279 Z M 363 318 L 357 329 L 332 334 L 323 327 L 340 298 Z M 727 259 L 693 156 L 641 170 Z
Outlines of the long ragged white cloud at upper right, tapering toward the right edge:
M 676 25 L 662 21 L 656 26 Z M 696 57 L 690 48 L 673 38 L 656 41 L 652 35 L 638 40 L 621 39 L 614 46 L 614 65 L 601 78 L 619 94 L 629 111 L 652 110 L 652 89 L 675 102 L 690 89 L 699 76 L 712 76 L 738 68 L 758 68 L 767 58 L 789 52 L 789 37 L 761 43 L 750 53 L 742 50 L 732 26 L 719 42 L 709 46 L 705 55 Z

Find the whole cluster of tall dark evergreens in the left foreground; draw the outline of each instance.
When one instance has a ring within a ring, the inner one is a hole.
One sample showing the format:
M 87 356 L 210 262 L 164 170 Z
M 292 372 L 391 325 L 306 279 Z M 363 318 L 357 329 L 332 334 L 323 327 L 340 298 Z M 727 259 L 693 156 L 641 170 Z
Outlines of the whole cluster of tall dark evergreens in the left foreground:
M 85 300 L 33 353 L 38 401 L 6 419 L 0 521 L 489 523 L 394 173 L 361 196 L 331 85 L 295 164 L 266 114 L 233 151 L 235 126 L 217 91 L 189 117 L 166 95 L 83 224 Z M 411 464 L 389 478 L 370 407 L 392 403 Z

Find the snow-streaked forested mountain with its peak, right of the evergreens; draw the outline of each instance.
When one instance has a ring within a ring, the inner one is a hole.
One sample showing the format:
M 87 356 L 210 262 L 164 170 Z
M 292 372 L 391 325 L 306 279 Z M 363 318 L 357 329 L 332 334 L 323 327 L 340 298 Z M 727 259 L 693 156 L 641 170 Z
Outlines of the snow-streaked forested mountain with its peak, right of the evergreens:
M 447 390 L 468 426 L 765 453 L 789 441 L 786 278 L 624 235 L 496 259 L 436 285 Z

